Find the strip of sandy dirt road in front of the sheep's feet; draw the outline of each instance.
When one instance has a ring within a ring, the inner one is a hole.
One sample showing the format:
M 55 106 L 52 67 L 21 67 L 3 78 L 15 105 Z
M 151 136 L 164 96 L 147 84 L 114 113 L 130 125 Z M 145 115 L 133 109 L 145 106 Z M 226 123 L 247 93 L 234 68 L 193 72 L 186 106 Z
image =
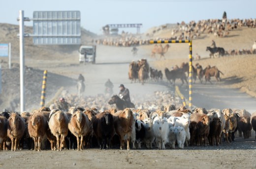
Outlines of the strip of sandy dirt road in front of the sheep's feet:
M 2 151 L 1 169 L 255 169 L 256 144 L 237 139 L 231 145 L 184 149 L 84 149 Z

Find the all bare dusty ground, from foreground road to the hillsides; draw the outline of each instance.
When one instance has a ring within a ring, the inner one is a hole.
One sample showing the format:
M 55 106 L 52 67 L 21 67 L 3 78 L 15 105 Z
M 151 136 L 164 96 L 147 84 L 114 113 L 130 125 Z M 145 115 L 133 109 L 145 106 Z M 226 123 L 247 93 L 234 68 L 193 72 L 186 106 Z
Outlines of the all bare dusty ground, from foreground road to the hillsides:
M 31 31 L 30 27 L 26 28 Z M 0 43 L 11 42 L 13 46 L 12 70 L 7 68 L 7 58 L 1 58 L 2 66 L 2 94 L 0 95 L 0 109 L 15 108 L 19 111 L 19 46 L 15 37 L 18 32 L 17 25 L 0 24 Z M 168 37 L 169 31 L 163 30 L 156 37 Z M 224 56 L 209 58 L 205 51 L 214 39 L 217 46 L 229 49 L 252 48 L 256 40 L 255 28 L 239 28 L 231 31 L 228 37 L 217 38 L 212 34 L 204 34 L 193 41 L 193 54 L 198 53 L 200 60 L 195 63 L 203 67 L 217 66 L 224 75 L 222 81 L 212 79 L 211 84 L 200 84 L 197 79 L 192 85 L 192 103 L 194 106 L 210 108 L 246 109 L 250 113 L 256 111 L 256 55 Z M 83 43 L 96 38 L 93 33 L 82 34 Z M 114 93 L 118 94 L 118 86 L 123 83 L 133 95 L 146 96 L 155 91 L 174 91 L 163 73 L 163 82 L 130 83 L 128 79 L 128 64 L 132 60 L 146 58 L 151 67 L 163 70 L 174 65 L 180 66 L 188 62 L 188 44 L 170 44 L 165 53 L 165 60 L 150 57 L 153 45 L 137 47 L 138 56 L 132 56 L 131 47 L 97 46 L 96 64 L 78 62 L 78 47 L 49 47 L 34 46 L 31 39 L 26 39 L 25 63 L 27 66 L 26 79 L 26 110 L 32 111 L 39 108 L 41 80 L 43 71 L 47 70 L 46 103 L 52 101 L 57 91 L 64 87 L 70 93 L 76 93 L 76 79 L 81 73 L 85 77 L 84 96 L 97 96 L 104 92 L 104 83 L 109 78 L 114 83 Z M 177 84 L 181 82 L 177 80 Z M 180 87 L 181 93 L 188 99 L 187 85 Z M 58 98 L 58 96 L 57 96 Z M 135 97 L 132 97 L 132 101 Z M 154 100 L 154 98 L 150 98 Z M 120 150 L 109 149 L 106 151 L 96 148 L 85 149 L 77 152 L 64 150 L 62 152 L 44 150 L 34 152 L 22 150 L 18 152 L 0 152 L 0 168 L 220 168 L 220 169 L 255 169 L 256 168 L 256 141 L 255 136 L 249 140 L 237 138 L 231 144 L 223 143 L 220 146 L 185 147 L 183 150 L 168 149 Z

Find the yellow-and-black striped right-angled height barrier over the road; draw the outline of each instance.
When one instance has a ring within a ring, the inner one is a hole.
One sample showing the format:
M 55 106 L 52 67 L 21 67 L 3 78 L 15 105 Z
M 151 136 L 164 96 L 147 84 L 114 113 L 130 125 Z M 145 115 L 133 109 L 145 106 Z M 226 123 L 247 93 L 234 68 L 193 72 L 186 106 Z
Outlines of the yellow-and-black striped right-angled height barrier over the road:
M 192 108 L 192 40 L 164 40 L 149 41 L 150 44 L 189 43 L 190 71 L 189 71 L 189 107 Z

